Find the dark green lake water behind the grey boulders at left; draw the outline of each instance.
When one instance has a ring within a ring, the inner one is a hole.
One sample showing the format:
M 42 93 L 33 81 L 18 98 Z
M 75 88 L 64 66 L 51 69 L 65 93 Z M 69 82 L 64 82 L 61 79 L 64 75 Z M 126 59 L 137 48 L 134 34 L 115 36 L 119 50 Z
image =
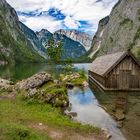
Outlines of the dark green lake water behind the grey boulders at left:
M 49 65 L 46 63 L 23 63 L 0 66 L 0 77 L 17 81 L 28 78 L 40 71 L 46 71 L 55 77 L 59 74 L 57 65 Z

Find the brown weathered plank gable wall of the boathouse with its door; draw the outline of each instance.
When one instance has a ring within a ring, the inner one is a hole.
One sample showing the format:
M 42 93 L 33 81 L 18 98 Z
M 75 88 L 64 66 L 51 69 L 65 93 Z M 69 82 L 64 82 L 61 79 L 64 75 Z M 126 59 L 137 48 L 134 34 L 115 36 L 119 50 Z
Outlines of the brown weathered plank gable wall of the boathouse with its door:
M 140 88 L 140 67 L 131 57 L 126 57 L 106 77 L 107 88 Z

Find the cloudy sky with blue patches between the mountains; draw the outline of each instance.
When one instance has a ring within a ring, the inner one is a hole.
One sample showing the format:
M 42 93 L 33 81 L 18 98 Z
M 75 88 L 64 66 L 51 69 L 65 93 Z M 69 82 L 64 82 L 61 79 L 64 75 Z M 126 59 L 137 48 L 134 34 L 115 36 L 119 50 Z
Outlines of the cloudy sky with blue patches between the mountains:
M 34 31 L 75 29 L 94 34 L 118 0 L 7 0 Z

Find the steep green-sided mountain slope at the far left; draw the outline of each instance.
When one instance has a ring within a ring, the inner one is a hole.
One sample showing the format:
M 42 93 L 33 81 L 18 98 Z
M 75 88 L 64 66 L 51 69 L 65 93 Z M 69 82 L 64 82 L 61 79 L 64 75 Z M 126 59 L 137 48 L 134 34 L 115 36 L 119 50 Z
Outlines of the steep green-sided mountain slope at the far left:
M 0 0 L 0 64 L 38 61 L 44 59 L 22 31 L 15 10 Z

